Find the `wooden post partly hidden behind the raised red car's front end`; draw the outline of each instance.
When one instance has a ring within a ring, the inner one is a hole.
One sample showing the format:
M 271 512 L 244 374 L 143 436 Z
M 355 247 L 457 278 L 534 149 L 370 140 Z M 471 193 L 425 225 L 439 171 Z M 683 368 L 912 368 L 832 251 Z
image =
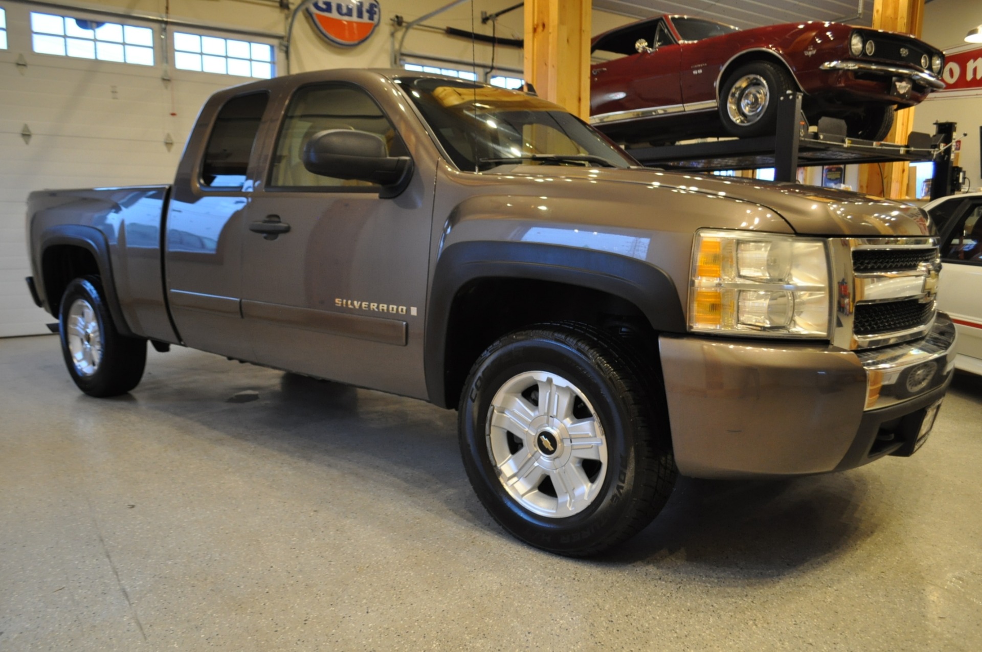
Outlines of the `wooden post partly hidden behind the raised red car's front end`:
M 920 38 L 924 23 L 924 0 L 874 0 L 873 28 L 900 31 Z M 907 136 L 913 129 L 914 109 L 897 112 L 894 128 L 887 140 L 906 144 Z M 882 174 L 881 174 L 882 169 Z M 910 164 L 897 163 L 867 164 L 859 168 L 859 190 L 878 194 L 892 199 L 903 199 L 907 195 L 907 177 Z

